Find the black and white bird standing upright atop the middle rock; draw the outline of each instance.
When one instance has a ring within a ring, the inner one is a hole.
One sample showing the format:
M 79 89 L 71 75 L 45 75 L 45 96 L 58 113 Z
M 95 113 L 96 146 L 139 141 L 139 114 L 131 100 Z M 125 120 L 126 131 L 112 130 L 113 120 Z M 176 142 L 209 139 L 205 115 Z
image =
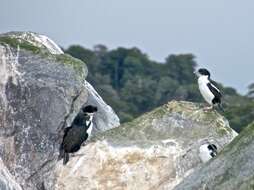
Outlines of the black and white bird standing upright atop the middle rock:
M 218 105 L 223 111 L 221 106 L 222 95 L 220 90 L 211 82 L 210 72 L 207 69 L 201 68 L 195 74 L 198 76 L 198 86 L 201 95 L 211 105 L 207 109 L 212 109 L 214 105 Z

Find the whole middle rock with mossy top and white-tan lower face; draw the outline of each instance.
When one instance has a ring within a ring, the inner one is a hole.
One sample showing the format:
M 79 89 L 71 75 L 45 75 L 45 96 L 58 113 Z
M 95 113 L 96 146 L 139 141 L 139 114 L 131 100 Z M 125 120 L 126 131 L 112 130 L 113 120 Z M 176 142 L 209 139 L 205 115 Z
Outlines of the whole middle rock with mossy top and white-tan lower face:
M 220 151 L 235 136 L 217 112 L 170 102 L 134 121 L 96 135 L 57 166 L 57 190 L 173 189 L 202 165 L 199 147 Z

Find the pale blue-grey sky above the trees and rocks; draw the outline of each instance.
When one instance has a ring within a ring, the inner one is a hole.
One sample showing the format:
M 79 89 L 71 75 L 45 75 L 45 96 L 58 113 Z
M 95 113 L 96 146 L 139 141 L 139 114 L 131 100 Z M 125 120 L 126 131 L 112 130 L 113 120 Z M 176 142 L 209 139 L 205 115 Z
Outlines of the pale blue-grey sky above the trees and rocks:
M 254 82 L 253 0 L 0 0 L 0 32 L 34 31 L 63 47 L 136 46 L 162 61 L 193 53 L 212 78 Z

